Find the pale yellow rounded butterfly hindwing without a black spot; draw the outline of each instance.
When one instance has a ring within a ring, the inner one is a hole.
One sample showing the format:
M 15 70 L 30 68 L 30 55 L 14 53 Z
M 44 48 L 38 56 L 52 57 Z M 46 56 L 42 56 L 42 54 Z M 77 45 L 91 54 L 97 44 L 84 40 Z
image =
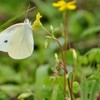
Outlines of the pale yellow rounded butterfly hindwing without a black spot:
M 8 54 L 13 59 L 24 59 L 33 52 L 32 28 L 29 24 L 19 26 L 8 45 Z

